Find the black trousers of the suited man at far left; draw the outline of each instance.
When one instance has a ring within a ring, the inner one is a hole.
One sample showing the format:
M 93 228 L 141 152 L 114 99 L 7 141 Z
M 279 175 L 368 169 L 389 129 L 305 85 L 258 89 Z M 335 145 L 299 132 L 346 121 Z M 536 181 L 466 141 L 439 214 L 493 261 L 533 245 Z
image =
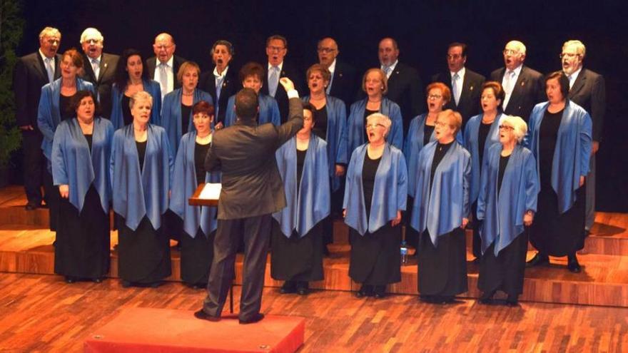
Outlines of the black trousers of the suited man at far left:
M 39 131 L 22 132 L 22 150 L 24 150 L 24 191 L 29 203 L 41 205 L 41 185 L 46 173 L 46 157 L 41 151 L 43 136 Z

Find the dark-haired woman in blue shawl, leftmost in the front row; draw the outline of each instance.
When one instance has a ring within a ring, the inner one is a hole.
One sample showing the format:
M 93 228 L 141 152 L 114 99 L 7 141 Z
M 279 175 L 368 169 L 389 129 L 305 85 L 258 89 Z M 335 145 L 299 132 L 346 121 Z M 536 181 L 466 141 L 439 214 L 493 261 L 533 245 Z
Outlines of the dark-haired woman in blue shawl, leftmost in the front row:
M 52 173 L 59 187 L 60 220 L 54 272 L 66 282 L 101 282 L 109 272 L 109 201 L 113 126 L 94 117 L 96 96 L 78 91 L 71 100 L 76 118 L 61 121 L 54 133 Z

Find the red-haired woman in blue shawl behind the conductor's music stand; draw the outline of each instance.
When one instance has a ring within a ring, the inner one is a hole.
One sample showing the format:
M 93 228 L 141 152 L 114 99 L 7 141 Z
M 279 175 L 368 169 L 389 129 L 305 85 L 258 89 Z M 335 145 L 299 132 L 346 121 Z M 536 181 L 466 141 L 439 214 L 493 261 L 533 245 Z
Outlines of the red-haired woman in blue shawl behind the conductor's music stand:
M 184 64 L 185 65 L 185 64 Z M 192 107 L 194 128 L 181 138 L 174 164 L 170 210 L 182 223 L 181 280 L 196 288 L 207 286 L 213 260 L 217 208 L 194 207 L 189 198 L 200 184 L 220 183 L 220 172 L 206 173 L 205 157 L 211 146 L 213 106 L 207 101 Z

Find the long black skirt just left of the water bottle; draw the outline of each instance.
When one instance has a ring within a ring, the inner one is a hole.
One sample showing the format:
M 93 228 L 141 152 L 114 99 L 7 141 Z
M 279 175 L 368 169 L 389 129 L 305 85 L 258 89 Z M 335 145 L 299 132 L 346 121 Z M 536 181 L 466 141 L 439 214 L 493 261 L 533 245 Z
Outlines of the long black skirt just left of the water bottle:
M 401 281 L 401 227 L 390 222 L 374 233 L 360 235 L 349 228 L 351 257 L 349 276 L 365 285 L 388 285 Z

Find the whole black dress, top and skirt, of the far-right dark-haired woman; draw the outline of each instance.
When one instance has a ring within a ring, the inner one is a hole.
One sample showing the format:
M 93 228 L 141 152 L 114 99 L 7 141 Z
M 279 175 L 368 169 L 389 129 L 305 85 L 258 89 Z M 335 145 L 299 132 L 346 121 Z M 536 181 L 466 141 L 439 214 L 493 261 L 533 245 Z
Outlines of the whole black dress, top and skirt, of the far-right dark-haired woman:
M 543 255 L 574 255 L 584 247 L 584 185 L 576 190 L 576 202 L 560 214 L 558 195 L 552 188 L 552 160 L 563 111 L 545 111 L 539 130 L 539 178 L 537 213 L 530 229 L 530 243 Z M 558 157 L 560 158 L 560 157 Z M 571 180 L 559 180 L 571 183 Z

